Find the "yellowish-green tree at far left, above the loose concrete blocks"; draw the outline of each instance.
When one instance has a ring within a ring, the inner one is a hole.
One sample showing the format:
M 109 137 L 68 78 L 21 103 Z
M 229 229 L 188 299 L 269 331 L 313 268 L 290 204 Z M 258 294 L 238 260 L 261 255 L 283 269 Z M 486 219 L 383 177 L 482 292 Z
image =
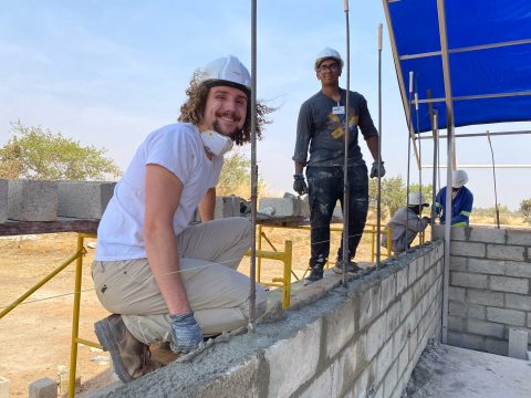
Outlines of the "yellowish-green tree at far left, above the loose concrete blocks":
M 84 147 L 61 133 L 11 124 L 13 136 L 0 148 L 0 178 L 102 180 L 122 174 L 105 149 Z

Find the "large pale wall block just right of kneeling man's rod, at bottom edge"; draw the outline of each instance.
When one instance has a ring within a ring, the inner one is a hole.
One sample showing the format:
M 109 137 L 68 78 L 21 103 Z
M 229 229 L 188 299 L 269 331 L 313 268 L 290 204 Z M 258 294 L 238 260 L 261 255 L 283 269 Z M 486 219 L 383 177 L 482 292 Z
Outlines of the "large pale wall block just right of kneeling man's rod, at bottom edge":
M 315 375 L 321 333 L 322 322 L 317 321 L 299 331 L 294 337 L 280 341 L 266 349 L 270 397 L 289 397 Z M 287 355 L 287 353 L 304 353 L 305 359 L 301 362 L 299 356 Z M 283 381 L 278 383 L 278 380 Z

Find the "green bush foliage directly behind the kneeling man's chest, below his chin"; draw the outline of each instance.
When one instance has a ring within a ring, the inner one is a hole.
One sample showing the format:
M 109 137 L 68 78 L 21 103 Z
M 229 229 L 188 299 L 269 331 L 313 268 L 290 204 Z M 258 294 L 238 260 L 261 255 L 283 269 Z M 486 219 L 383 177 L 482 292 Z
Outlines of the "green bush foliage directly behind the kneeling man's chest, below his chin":
M 219 184 L 216 188 L 217 195 L 236 195 L 244 199 L 251 196 L 251 160 L 244 155 L 235 150 L 226 156 L 223 168 L 219 176 Z M 266 184 L 262 179 L 258 181 L 258 191 L 262 191 Z

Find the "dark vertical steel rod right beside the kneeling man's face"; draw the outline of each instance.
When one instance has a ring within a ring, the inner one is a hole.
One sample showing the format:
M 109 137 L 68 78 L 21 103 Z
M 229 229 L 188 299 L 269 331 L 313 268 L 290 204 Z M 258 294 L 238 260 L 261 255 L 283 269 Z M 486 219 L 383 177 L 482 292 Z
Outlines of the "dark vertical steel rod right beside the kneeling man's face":
M 251 0 L 251 264 L 249 272 L 249 325 L 248 332 L 254 332 L 257 304 L 257 0 Z

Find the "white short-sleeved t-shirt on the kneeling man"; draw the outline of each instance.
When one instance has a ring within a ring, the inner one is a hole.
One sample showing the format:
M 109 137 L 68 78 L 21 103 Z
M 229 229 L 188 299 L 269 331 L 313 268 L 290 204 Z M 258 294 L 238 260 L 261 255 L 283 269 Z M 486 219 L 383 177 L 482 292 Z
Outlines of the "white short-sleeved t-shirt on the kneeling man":
M 177 123 L 149 134 L 114 189 L 97 229 L 95 259 L 98 261 L 146 258 L 143 239 L 146 165 L 167 168 L 183 182 L 183 193 L 174 216 L 178 235 L 189 223 L 208 188 L 219 180 L 222 156 L 208 159 L 199 129 Z

